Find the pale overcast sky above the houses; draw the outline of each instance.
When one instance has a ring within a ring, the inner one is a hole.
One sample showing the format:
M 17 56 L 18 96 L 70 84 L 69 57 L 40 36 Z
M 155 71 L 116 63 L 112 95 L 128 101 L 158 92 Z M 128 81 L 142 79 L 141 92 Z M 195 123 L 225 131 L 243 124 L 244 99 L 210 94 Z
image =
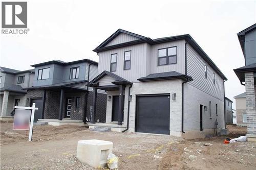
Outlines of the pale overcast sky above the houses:
M 256 1 L 27 2 L 30 31 L 1 35 L 1 66 L 98 61 L 92 50 L 119 28 L 152 39 L 190 34 L 228 78 L 226 96 L 234 101 L 245 91 L 233 72 L 244 66 L 237 33 L 256 22 Z

